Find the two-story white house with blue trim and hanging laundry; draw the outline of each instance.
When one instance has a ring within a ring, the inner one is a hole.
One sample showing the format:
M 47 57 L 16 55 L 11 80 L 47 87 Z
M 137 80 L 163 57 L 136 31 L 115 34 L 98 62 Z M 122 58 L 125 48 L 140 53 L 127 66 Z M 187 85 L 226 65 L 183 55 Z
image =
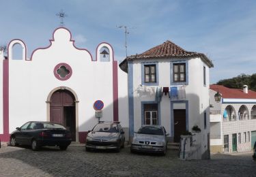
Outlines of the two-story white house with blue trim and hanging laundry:
M 201 129 L 201 158 L 209 156 L 209 68 L 212 61 L 168 41 L 126 57 L 119 64 L 128 73 L 129 136 L 141 125 L 163 125 L 172 142 L 184 131 Z

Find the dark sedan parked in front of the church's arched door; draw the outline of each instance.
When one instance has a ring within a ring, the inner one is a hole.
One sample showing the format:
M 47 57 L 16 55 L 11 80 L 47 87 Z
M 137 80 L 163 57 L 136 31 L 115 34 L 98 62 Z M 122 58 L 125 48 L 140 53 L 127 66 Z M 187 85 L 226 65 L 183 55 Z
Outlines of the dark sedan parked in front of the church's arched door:
M 32 150 L 38 150 L 42 146 L 59 146 L 66 150 L 72 141 L 71 133 L 62 125 L 49 122 L 31 121 L 21 127 L 10 136 L 10 145 L 29 145 Z

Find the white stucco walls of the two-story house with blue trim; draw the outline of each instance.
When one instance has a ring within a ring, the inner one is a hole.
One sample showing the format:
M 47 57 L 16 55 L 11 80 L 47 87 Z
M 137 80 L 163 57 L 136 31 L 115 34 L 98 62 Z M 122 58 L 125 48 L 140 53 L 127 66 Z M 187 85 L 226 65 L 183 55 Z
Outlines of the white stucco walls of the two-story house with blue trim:
M 188 59 L 177 59 L 177 61 L 187 61 Z M 133 90 L 134 90 L 134 131 L 141 126 L 141 101 L 155 101 L 155 94 L 138 93 L 137 88 L 141 84 L 141 62 L 158 62 L 158 86 L 173 86 L 171 82 L 170 59 L 150 59 L 143 61 L 133 61 Z M 203 66 L 206 69 L 206 84 L 203 84 Z M 209 118 L 209 68 L 200 58 L 188 60 L 188 85 L 186 85 L 186 99 L 188 100 L 188 130 L 192 131 L 194 125 L 201 128 L 201 151 L 208 148 L 208 133 L 210 133 Z M 174 104 L 174 108 L 184 108 L 184 105 Z M 204 112 L 206 112 L 206 128 L 204 128 Z M 167 133 L 171 135 L 171 101 L 168 96 L 163 95 L 160 101 L 160 123 L 165 126 Z

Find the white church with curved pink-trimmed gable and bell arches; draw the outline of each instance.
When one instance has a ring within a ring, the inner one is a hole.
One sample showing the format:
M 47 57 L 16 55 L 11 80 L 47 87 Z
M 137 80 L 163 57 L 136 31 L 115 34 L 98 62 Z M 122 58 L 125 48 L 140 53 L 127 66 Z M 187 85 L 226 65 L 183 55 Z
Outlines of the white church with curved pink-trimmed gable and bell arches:
M 14 59 L 16 45 L 22 49 L 20 59 Z M 45 120 L 68 127 L 74 142 L 85 142 L 87 131 L 98 123 L 97 100 L 104 103 L 101 120 L 119 120 L 128 130 L 127 76 L 110 44 L 100 43 L 94 58 L 77 48 L 71 32 L 61 27 L 30 58 L 20 39 L 9 43 L 7 57 L 0 52 L 1 141 L 8 142 L 10 133 L 27 121 Z

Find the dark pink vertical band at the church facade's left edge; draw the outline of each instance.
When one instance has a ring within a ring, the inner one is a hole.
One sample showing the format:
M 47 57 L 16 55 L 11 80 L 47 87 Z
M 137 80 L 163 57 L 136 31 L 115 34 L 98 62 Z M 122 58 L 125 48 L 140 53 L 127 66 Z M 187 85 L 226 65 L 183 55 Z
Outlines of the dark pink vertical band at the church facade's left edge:
M 9 60 L 3 60 L 3 134 L 1 141 L 8 142 L 9 134 Z

